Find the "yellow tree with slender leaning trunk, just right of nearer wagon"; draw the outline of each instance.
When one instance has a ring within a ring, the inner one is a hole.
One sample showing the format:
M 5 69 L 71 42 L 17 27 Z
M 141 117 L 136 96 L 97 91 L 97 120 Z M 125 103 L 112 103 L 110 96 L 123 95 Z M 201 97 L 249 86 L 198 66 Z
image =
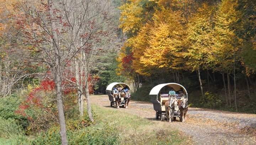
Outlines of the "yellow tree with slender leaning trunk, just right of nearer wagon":
M 200 71 L 209 69 L 212 60 L 210 59 L 213 47 L 213 21 L 211 20 L 213 8 L 207 4 L 198 10 L 188 24 L 188 49 L 184 54 L 188 58 L 186 68 L 191 71 L 197 71 L 201 93 L 204 98 Z

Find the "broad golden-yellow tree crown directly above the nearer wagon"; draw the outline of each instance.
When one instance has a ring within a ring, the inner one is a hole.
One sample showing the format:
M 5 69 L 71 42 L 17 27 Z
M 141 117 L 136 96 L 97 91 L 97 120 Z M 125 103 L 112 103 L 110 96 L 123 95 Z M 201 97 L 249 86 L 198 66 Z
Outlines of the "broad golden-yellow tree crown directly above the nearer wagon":
M 154 24 L 149 33 L 149 47 L 140 58 L 141 63 L 147 67 L 178 69 L 182 60 L 179 53 L 183 36 L 179 17 L 171 10 L 162 8 L 162 11 L 155 12 L 152 19 Z

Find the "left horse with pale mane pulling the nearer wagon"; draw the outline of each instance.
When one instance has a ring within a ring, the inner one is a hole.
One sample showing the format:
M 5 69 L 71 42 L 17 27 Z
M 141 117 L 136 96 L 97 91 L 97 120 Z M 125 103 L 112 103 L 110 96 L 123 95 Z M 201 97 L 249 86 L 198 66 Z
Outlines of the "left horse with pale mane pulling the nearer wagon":
M 174 118 L 174 111 L 178 111 L 178 102 L 176 98 L 171 98 L 170 101 L 165 102 L 165 112 L 166 112 L 166 118 L 167 122 L 172 122 Z

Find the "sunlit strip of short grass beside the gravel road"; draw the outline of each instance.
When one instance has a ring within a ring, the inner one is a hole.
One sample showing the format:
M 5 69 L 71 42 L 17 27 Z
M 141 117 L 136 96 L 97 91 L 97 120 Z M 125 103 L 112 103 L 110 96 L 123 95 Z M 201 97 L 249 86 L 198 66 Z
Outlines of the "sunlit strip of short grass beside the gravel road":
M 118 135 L 117 144 L 183 144 L 187 140 L 177 130 L 162 126 L 136 115 L 122 112 L 122 109 L 98 107 L 94 112 L 98 115 L 97 126 L 101 128 L 108 124 Z

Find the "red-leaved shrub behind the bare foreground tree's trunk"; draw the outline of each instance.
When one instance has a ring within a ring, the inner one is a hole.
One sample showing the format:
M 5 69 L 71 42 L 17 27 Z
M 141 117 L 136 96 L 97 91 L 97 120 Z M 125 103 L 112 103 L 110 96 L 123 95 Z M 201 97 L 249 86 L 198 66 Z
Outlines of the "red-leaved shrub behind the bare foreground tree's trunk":
M 27 94 L 20 103 L 16 113 L 28 118 L 29 126 L 26 128 L 27 134 L 48 130 L 53 124 L 58 123 L 58 109 L 55 100 L 54 82 L 44 80 L 39 86 L 28 86 Z M 67 92 L 66 92 L 67 93 Z M 72 92 L 65 94 L 64 112 L 66 118 L 69 115 L 78 118 L 76 96 Z

